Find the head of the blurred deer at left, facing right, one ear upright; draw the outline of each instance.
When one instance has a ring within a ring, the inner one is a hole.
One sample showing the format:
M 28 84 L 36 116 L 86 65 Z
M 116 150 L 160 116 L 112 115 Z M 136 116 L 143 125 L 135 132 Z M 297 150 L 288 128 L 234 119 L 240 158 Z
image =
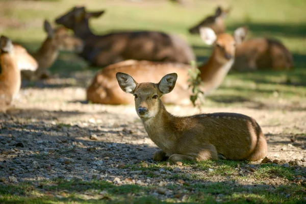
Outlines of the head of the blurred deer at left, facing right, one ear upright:
M 83 50 L 83 41 L 69 34 L 64 27 L 53 29 L 50 23 L 45 20 L 43 25 L 44 31 L 47 34 L 48 46 L 53 46 L 60 50 L 71 50 L 81 53 Z

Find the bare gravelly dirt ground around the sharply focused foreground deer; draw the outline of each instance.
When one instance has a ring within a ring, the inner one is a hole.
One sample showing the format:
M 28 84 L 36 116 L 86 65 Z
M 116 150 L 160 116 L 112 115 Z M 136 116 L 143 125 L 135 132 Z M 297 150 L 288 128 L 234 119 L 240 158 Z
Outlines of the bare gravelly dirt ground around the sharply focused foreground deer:
M 147 173 L 133 167 L 141 162 L 152 163 L 152 155 L 158 149 L 146 135 L 133 106 L 85 104 L 84 98 L 84 88 L 23 89 L 15 101 L 16 109 L 0 115 L 0 177 L 6 182 L 11 181 L 9 176 L 15 177 L 17 182 L 94 178 L 140 186 L 177 182 L 173 178 L 161 179 L 159 175 L 161 172 L 163 175 L 164 170 L 152 171 L 158 176 L 147 179 Z M 192 107 L 169 106 L 167 109 L 175 115 L 198 113 Z M 267 137 L 268 158 L 278 160 L 280 165 L 291 161 L 290 165 L 296 165 L 297 170 L 306 175 L 306 111 L 224 107 L 203 108 L 202 112 L 237 112 L 252 116 Z M 143 167 L 143 163 L 141 165 Z M 173 166 L 172 170 L 175 168 Z M 173 174 L 173 171 L 165 172 Z M 179 167 L 179 171 L 199 174 L 198 169 L 188 166 Z M 206 177 L 206 181 L 211 182 L 224 179 L 224 176 Z M 289 182 L 273 178 L 268 181 Z M 240 183 L 250 185 L 254 179 Z

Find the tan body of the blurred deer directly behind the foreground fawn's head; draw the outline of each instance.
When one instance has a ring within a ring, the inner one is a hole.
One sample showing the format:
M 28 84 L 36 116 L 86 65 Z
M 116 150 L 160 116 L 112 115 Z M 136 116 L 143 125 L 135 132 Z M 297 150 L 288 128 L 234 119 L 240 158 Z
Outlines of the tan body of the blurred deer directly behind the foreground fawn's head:
M 190 66 L 184 64 L 148 61 L 126 61 L 125 65 L 124 62 L 118 63 L 117 66 L 110 65 L 97 72 L 87 89 L 87 99 L 101 104 L 133 104 L 133 96 L 122 93 L 116 80 L 117 72 L 133 75 L 137 83 L 158 83 L 164 75 L 176 72 L 179 75 L 176 86 L 171 93 L 164 95 L 162 100 L 167 104 L 177 104 L 185 97 L 189 101 L 188 68 Z

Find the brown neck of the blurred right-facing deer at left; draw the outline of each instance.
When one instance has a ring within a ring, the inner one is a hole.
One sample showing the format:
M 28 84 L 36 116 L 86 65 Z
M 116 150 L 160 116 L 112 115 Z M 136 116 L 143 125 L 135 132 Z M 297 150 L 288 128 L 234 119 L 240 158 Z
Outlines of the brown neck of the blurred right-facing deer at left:
M 51 38 L 47 38 L 38 51 L 33 54 L 38 62 L 38 69 L 47 69 L 52 66 L 58 55 L 58 46 L 53 43 L 53 39 Z

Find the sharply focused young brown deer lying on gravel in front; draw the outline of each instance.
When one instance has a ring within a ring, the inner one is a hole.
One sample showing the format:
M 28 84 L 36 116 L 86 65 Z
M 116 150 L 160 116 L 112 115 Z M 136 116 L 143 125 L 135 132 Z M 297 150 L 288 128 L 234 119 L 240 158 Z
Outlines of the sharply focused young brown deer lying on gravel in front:
M 237 113 L 212 113 L 176 117 L 165 109 L 161 97 L 173 90 L 176 73 L 158 84 L 138 84 L 129 74 L 116 74 L 120 88 L 135 96 L 135 108 L 151 140 L 161 148 L 153 159 L 257 161 L 267 155 L 267 142 L 259 124 Z

